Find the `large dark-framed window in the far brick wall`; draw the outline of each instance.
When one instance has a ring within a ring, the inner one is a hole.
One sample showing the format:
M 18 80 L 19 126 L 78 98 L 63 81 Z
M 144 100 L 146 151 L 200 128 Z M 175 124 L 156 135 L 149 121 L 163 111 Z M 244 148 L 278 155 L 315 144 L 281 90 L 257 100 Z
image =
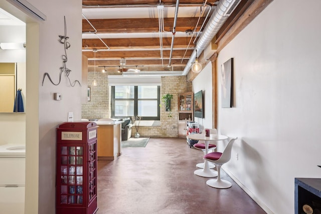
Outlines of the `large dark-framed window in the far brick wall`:
M 111 116 L 159 120 L 160 86 L 112 86 Z

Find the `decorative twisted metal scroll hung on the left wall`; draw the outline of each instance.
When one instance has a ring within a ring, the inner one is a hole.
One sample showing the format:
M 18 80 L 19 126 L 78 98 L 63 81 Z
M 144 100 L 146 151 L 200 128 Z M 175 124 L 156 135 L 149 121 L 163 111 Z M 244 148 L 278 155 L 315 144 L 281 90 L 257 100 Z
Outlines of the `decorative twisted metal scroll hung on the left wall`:
M 49 80 L 50 80 L 50 82 L 51 82 L 52 84 L 54 84 L 54 85 L 59 85 L 60 82 L 61 82 L 61 75 L 62 75 L 63 73 L 65 73 L 65 74 L 66 74 L 66 77 L 68 78 L 69 83 L 70 83 L 70 85 L 71 85 L 72 87 L 74 87 L 74 86 L 76 85 L 76 83 L 78 83 L 78 84 L 81 86 L 81 84 L 80 84 L 80 82 L 79 82 L 78 80 L 75 80 L 73 83 L 71 83 L 71 80 L 70 80 L 70 78 L 69 78 L 69 74 L 70 74 L 71 70 L 67 68 L 67 65 L 66 65 L 66 64 L 67 64 L 67 61 L 68 61 L 67 49 L 70 48 L 70 43 L 67 42 L 67 40 L 69 39 L 69 37 L 67 37 L 66 17 L 64 17 L 64 21 L 65 21 L 65 35 L 64 35 L 64 36 L 59 36 L 59 43 L 64 44 L 65 55 L 62 55 L 62 56 L 61 56 L 61 59 L 62 59 L 62 67 L 59 68 L 59 69 L 60 69 L 59 82 L 58 82 L 57 84 L 54 83 L 54 82 L 52 81 L 49 73 L 44 73 L 44 77 L 43 77 L 43 79 L 42 79 L 42 85 L 44 85 L 44 81 L 45 81 L 46 76 L 49 78 Z

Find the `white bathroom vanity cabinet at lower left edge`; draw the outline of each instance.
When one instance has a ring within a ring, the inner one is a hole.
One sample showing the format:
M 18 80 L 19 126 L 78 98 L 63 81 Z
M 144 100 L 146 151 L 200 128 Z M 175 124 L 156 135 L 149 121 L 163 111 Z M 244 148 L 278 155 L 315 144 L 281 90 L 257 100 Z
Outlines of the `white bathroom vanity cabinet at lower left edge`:
M 26 158 L 21 152 L 7 152 L 6 145 L 0 146 L 0 213 L 25 212 Z

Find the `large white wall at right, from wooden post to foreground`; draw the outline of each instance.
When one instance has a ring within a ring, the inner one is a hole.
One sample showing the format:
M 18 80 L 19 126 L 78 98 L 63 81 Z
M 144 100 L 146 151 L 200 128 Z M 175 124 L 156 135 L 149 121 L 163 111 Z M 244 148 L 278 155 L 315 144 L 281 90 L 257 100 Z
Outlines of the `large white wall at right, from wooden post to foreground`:
M 233 108 L 218 87 L 219 133 L 238 137 L 225 169 L 268 212 L 294 213 L 294 178 L 321 177 L 319 8 L 273 1 L 218 55 L 234 58 Z

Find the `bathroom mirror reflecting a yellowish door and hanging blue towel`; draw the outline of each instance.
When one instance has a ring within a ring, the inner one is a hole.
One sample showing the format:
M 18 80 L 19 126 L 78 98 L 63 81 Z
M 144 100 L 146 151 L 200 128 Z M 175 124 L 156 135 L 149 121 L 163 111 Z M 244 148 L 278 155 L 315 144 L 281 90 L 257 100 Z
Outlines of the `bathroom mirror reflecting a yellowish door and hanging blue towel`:
M 24 112 L 25 92 L 26 63 L 0 63 L 0 112 Z

